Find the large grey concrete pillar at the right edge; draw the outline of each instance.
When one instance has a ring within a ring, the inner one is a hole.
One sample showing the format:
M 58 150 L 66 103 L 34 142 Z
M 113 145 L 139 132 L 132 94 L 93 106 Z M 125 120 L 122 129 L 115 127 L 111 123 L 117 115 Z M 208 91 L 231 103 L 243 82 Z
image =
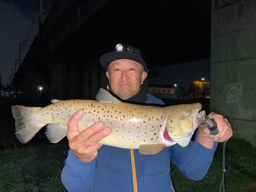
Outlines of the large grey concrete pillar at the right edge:
M 210 111 L 256 145 L 256 2 L 212 0 Z

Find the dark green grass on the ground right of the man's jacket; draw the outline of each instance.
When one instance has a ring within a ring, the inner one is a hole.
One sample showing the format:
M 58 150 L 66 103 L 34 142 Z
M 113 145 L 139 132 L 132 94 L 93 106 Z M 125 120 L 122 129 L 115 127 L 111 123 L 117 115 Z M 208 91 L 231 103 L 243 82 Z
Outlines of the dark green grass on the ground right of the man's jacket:
M 172 181 L 178 192 L 220 191 L 222 179 L 223 143 L 219 143 L 214 160 L 206 176 L 192 181 L 183 176 L 175 165 L 171 166 Z M 256 184 L 256 147 L 239 138 L 230 138 L 226 144 L 225 188 L 233 190 Z

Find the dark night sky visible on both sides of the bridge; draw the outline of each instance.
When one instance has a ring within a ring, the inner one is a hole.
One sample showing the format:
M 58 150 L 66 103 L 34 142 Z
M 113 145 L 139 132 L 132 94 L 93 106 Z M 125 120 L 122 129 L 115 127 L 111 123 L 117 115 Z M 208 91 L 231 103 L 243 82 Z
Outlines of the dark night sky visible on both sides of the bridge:
M 42 12 L 43 22 L 53 3 L 54 0 L 43 0 L 42 10 L 45 10 Z M 0 75 L 3 85 L 9 82 L 12 69 L 15 69 L 15 59 L 18 59 L 19 56 L 19 43 L 25 44 L 27 39 L 26 44 L 31 45 L 33 37 L 38 32 L 39 18 L 35 14 L 39 14 L 39 4 L 39 0 L 0 1 Z M 23 49 L 22 59 L 27 51 L 28 49 Z M 174 82 L 177 86 L 187 89 L 188 84 L 193 80 L 206 78 L 206 81 L 210 81 L 210 59 L 157 69 L 162 70 L 163 74 L 159 75 L 158 78 L 149 79 L 149 83 L 172 84 Z

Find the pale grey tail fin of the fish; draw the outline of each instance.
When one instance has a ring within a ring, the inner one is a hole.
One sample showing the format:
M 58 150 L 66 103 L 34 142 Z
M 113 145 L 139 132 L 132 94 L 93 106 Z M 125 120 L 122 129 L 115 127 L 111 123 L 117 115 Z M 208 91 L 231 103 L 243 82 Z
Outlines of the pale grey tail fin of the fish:
M 11 107 L 12 115 L 15 119 L 15 131 L 18 140 L 22 143 L 27 143 L 34 135 L 46 124 L 38 124 L 33 115 L 33 111 L 37 107 L 26 107 L 15 105 Z

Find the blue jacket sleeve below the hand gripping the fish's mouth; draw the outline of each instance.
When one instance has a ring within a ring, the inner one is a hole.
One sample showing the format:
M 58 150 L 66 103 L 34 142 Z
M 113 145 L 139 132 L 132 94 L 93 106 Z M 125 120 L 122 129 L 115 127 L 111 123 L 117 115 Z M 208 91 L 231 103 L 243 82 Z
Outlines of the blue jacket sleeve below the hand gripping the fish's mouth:
M 189 179 L 198 181 L 204 178 L 211 165 L 214 153 L 218 146 L 215 142 L 214 148 L 209 149 L 197 141 L 190 141 L 186 147 L 178 144 L 169 147 L 173 164 Z

